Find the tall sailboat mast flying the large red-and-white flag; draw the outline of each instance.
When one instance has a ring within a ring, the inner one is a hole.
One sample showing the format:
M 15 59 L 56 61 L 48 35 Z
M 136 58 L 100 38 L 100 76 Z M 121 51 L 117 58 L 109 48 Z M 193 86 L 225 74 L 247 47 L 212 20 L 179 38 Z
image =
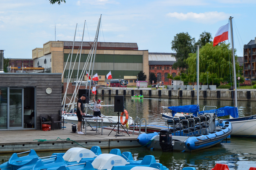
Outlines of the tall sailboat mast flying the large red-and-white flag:
M 234 72 L 234 87 L 235 87 L 235 107 L 237 107 L 237 76 L 236 76 L 236 61 L 235 61 L 235 49 L 234 49 L 234 39 L 233 39 L 233 27 L 232 27 L 232 18 L 230 17 L 230 33 L 231 33 L 231 44 L 232 44 L 232 58 L 233 58 L 233 72 Z

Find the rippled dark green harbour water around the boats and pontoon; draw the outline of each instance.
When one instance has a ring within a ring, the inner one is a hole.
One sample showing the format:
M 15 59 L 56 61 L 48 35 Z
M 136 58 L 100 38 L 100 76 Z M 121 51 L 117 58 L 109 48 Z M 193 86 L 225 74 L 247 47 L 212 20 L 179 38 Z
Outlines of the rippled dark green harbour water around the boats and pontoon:
M 97 98 L 97 97 L 96 97 Z M 114 104 L 114 97 L 98 97 L 104 101 L 102 104 Z M 160 115 L 160 106 L 178 106 L 196 104 L 196 100 L 190 99 L 157 99 L 143 98 L 131 99 L 125 98 L 125 109 L 133 118 L 136 116 L 146 118 L 148 124 L 161 124 L 164 121 Z M 200 111 L 202 106 L 233 106 L 232 101 L 223 100 L 199 100 Z M 256 114 L 256 102 L 254 101 L 238 101 L 239 116 L 249 116 Z M 102 114 L 107 116 L 117 116 L 114 107 L 104 107 L 101 109 Z M 162 163 L 170 170 L 181 170 L 184 167 L 191 166 L 199 170 L 210 170 L 216 163 L 227 164 L 230 170 L 249 170 L 250 167 L 256 167 L 256 139 L 252 138 L 234 138 L 231 137 L 230 143 L 219 143 L 211 148 L 188 152 L 162 152 L 151 151 L 146 148 L 121 149 L 121 152 L 131 152 L 134 160 L 142 159 L 145 155 L 154 155 L 157 162 Z M 52 153 L 40 152 L 39 156 L 48 156 Z M 108 149 L 102 149 L 102 153 L 109 153 Z M 0 154 L 0 164 L 6 162 L 11 154 Z

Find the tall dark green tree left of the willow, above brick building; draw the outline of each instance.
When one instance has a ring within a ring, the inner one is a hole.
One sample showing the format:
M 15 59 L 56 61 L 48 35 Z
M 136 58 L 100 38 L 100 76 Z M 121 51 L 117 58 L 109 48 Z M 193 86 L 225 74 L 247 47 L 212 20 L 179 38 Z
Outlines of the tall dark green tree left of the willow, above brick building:
M 188 33 L 178 33 L 174 36 L 171 42 L 172 50 L 177 53 L 177 62 L 173 64 L 173 68 L 177 67 L 188 68 L 185 59 L 188 58 L 190 53 L 193 53 L 195 48 L 195 38 L 192 38 Z

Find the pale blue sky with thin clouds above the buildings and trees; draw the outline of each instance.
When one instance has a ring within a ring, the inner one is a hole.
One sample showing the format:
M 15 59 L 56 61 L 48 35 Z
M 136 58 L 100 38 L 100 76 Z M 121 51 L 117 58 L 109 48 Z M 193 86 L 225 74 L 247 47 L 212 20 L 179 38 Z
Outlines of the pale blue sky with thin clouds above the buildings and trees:
M 176 34 L 187 32 L 197 41 L 206 31 L 214 38 L 232 16 L 236 55 L 243 56 L 243 45 L 256 36 L 255 7 L 255 0 L 1 0 L 0 50 L 4 58 L 32 58 L 32 50 L 48 41 L 73 41 L 76 24 L 75 41 L 81 41 L 84 23 L 83 41 L 93 41 L 102 14 L 100 42 L 175 52 Z

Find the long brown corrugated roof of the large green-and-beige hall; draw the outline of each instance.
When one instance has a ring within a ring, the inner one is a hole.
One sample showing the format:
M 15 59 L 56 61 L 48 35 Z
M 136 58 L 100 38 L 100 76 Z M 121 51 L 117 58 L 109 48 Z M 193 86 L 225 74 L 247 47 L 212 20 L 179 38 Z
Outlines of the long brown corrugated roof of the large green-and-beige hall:
M 82 49 L 91 49 L 94 42 L 83 42 Z M 73 41 L 63 41 L 64 49 L 72 49 Z M 81 46 L 81 41 L 75 41 L 74 49 Z M 120 43 L 120 42 L 98 42 L 97 50 L 138 50 L 137 43 Z

